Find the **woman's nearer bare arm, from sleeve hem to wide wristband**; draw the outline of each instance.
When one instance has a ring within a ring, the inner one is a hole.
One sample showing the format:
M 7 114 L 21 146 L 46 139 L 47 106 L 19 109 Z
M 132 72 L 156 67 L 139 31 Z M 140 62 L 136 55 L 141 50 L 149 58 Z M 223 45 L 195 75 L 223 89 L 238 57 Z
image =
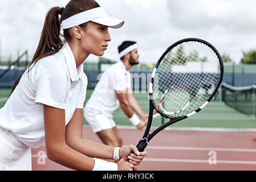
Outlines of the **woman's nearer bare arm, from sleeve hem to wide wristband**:
M 48 158 L 75 170 L 92 170 L 94 159 L 75 151 L 65 142 L 65 110 L 44 105 L 43 115 Z

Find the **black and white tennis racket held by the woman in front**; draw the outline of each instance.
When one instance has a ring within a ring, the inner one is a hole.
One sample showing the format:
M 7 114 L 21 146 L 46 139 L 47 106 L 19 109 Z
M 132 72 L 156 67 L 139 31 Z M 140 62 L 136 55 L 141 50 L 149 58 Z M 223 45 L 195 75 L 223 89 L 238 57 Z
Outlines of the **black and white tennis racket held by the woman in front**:
M 170 46 L 152 73 L 148 125 L 137 144 L 138 150 L 144 151 L 165 127 L 192 117 L 208 105 L 221 85 L 223 73 L 220 53 L 205 40 L 188 38 Z M 149 134 L 153 115 L 170 121 Z

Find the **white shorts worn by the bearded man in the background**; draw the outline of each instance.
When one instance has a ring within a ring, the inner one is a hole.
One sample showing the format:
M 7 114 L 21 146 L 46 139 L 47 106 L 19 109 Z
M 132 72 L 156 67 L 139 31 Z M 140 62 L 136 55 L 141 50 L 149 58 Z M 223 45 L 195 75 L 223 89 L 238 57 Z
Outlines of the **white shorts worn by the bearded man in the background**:
M 116 126 L 115 121 L 113 121 L 112 114 L 104 113 L 104 111 L 93 109 L 88 106 L 84 107 L 84 117 L 90 124 L 94 133 L 102 130 L 112 129 L 112 127 Z

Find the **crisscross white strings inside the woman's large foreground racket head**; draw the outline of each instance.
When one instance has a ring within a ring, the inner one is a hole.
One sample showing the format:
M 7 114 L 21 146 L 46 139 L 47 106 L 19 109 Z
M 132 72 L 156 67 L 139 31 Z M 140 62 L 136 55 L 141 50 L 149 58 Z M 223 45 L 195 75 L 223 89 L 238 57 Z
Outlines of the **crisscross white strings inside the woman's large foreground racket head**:
M 193 62 L 194 64 L 188 65 L 188 63 Z M 201 63 L 200 71 L 198 71 L 198 64 L 196 63 Z M 208 64 L 204 65 L 204 63 Z M 218 78 L 220 77 L 219 68 L 210 68 L 216 65 L 219 65 L 216 53 L 205 44 L 186 42 L 179 47 L 176 46 L 166 54 L 159 68 L 157 68 L 157 75 L 153 82 L 153 100 L 155 104 L 158 105 L 161 101 L 165 112 L 176 113 L 177 110 L 184 108 L 188 105 L 188 102 L 192 101 L 182 113 L 179 113 L 179 116 L 196 110 L 209 98 L 208 94 L 198 93 L 198 90 L 203 88 L 202 84 L 209 84 L 206 88 L 214 86 L 215 89 L 218 83 Z M 183 68 L 184 70 L 179 73 L 172 72 L 173 66 Z M 176 90 L 174 92 L 172 89 L 169 89 L 174 85 L 185 86 L 186 94 L 184 94 L 184 90 Z M 163 90 L 168 89 L 170 90 L 168 94 L 162 95 Z

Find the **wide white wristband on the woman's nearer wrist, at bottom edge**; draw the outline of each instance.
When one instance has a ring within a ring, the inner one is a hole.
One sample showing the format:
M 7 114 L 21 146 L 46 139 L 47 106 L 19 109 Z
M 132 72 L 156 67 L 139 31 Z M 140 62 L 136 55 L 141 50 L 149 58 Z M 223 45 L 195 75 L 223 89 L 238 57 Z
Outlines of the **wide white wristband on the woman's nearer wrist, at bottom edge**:
M 94 158 L 94 168 L 92 171 L 117 171 L 116 163 L 107 162 L 105 160 Z

